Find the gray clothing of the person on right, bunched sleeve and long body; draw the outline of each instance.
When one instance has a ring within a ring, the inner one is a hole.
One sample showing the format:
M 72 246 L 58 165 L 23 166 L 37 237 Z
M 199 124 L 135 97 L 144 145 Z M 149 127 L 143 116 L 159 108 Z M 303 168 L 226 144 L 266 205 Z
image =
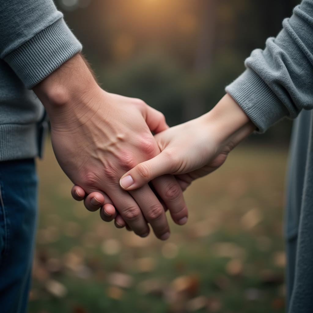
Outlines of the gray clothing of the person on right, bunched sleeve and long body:
M 226 91 L 260 132 L 295 118 L 285 214 L 288 312 L 313 312 L 313 0 L 303 0 L 276 38 L 246 59 Z

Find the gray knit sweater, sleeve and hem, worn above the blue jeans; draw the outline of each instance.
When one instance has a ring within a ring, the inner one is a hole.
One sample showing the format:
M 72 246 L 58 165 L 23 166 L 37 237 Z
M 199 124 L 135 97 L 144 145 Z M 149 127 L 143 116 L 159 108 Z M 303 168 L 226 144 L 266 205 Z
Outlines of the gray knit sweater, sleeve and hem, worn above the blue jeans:
M 0 161 L 40 154 L 44 108 L 28 89 L 80 50 L 52 0 L 0 1 Z

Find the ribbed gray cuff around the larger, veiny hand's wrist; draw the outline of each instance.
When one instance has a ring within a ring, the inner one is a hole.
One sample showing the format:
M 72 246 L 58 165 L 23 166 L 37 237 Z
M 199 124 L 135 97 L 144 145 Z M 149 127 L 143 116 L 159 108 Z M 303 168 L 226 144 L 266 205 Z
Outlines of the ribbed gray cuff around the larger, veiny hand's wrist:
M 81 49 L 80 42 L 60 18 L 10 52 L 4 60 L 31 89 Z

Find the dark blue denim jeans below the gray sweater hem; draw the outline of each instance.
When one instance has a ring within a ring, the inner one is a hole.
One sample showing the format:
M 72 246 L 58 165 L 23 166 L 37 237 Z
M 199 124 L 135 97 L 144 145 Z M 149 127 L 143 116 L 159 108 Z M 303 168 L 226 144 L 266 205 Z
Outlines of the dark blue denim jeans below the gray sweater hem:
M 37 218 L 33 159 L 0 162 L 0 311 L 27 310 Z

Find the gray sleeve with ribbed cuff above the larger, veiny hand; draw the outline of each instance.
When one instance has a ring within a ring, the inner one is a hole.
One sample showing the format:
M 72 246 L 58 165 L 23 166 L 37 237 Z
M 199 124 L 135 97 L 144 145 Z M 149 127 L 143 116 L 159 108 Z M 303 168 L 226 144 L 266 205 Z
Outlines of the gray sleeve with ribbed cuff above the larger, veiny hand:
M 82 49 L 52 0 L 1 0 L 0 34 L 0 58 L 29 89 Z

